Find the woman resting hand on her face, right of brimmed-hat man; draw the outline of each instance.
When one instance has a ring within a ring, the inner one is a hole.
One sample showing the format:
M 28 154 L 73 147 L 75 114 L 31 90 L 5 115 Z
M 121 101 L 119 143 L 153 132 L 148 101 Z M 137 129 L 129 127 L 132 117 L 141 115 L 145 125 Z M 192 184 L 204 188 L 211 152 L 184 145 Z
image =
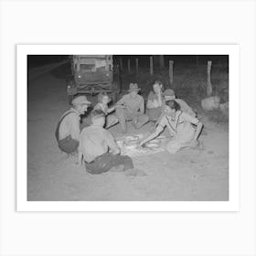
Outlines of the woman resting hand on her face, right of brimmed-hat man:
M 163 84 L 161 81 L 156 80 L 153 85 L 153 90 L 150 91 L 147 97 L 146 114 L 150 121 L 157 121 L 163 111 L 165 99 L 163 96 Z

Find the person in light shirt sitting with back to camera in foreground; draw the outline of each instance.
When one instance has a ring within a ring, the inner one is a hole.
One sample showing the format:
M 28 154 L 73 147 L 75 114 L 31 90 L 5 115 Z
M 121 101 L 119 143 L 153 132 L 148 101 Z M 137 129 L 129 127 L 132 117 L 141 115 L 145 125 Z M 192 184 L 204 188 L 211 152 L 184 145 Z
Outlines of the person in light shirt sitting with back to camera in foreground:
M 88 173 L 97 175 L 108 172 L 112 167 L 120 167 L 125 175 L 144 176 L 144 172 L 133 167 L 128 155 L 120 155 L 112 133 L 104 129 L 105 113 L 101 110 L 91 112 L 92 124 L 80 133 L 78 165 L 84 163 Z

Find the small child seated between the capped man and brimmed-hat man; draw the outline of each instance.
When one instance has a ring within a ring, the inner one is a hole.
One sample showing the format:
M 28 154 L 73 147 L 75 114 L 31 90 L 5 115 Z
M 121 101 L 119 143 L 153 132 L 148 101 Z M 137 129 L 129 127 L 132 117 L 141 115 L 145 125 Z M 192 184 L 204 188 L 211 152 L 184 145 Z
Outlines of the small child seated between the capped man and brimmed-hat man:
M 118 118 L 115 113 L 116 106 L 112 106 L 109 108 L 108 104 L 111 101 L 110 97 L 107 93 L 99 93 L 98 94 L 98 103 L 95 105 L 93 110 L 101 110 L 106 114 L 106 123 L 105 128 L 110 128 L 116 123 L 118 123 Z

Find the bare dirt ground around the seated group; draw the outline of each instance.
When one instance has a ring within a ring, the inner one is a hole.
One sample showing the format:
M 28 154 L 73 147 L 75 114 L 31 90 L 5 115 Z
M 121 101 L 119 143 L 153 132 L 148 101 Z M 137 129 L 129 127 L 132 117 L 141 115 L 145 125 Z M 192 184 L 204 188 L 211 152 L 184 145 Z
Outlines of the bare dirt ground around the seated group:
M 189 77 L 191 73 L 187 80 Z M 150 89 L 148 84 L 151 82 L 141 82 L 140 86 Z M 144 93 L 147 91 L 145 89 Z M 182 95 L 186 86 L 177 91 Z M 200 86 L 197 91 L 200 91 Z M 204 133 L 200 136 L 203 148 L 180 151 L 176 155 L 162 152 L 134 157 L 134 165 L 143 169 L 147 176 L 124 176 L 123 173 L 113 172 L 93 176 L 74 165 L 75 157 L 61 154 L 55 140 L 59 117 L 69 109 L 65 80 L 51 73 L 31 80 L 27 112 L 27 199 L 228 200 L 229 123 L 219 112 L 208 115 L 202 112 L 195 103 L 201 95 L 192 95 L 192 92 L 191 97 L 188 94 L 182 96 L 197 107 L 204 123 Z M 139 133 L 148 131 L 150 125 L 146 124 Z M 115 137 L 120 136 L 119 125 L 113 127 L 111 132 Z M 138 132 L 131 128 L 130 133 Z

